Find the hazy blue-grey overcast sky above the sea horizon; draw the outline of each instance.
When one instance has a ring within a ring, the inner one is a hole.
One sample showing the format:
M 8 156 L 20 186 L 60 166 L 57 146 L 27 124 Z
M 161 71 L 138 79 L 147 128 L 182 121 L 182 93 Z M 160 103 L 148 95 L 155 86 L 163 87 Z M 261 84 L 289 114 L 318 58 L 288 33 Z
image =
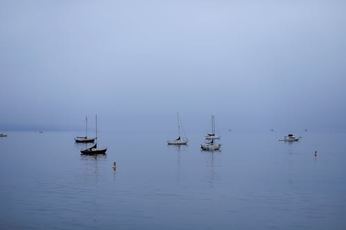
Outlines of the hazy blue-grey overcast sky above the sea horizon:
M 0 1 L 0 131 L 346 130 L 346 1 Z

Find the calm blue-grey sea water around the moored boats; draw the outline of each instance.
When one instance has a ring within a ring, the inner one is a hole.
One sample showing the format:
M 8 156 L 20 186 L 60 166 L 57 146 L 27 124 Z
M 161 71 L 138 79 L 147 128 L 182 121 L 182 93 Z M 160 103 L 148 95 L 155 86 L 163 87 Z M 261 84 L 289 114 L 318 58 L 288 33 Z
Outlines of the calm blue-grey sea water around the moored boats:
M 100 132 L 91 156 L 73 132 L 7 134 L 0 229 L 346 229 L 346 133 L 232 131 L 208 152 L 205 133 Z

